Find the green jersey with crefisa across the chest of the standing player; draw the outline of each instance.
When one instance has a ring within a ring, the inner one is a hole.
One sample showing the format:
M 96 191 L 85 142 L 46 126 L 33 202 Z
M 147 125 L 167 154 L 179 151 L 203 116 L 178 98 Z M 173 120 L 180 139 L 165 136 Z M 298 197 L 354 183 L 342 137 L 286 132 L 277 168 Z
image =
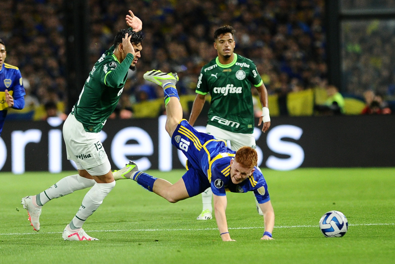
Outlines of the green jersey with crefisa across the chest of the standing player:
M 201 69 L 196 93 L 211 94 L 207 124 L 243 134 L 254 131 L 254 104 L 251 86 L 263 81 L 255 64 L 243 56 L 223 65 L 218 57 Z

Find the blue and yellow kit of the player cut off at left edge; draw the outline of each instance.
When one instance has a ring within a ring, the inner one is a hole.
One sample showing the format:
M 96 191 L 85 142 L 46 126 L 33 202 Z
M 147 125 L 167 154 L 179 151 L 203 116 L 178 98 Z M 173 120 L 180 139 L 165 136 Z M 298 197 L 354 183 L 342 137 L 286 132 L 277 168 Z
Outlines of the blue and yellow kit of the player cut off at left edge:
M 23 80 L 19 68 L 4 63 L 0 70 L 0 133 L 2 131 L 4 120 L 7 116 L 8 104 L 6 102 L 6 93 L 15 99 L 23 97 L 26 93 L 23 87 Z

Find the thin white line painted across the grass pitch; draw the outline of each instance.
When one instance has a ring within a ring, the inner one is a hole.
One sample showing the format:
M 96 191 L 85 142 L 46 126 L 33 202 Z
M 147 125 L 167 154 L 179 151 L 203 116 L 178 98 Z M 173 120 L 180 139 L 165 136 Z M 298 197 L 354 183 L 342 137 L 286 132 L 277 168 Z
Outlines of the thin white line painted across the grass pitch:
M 392 226 L 395 223 L 372 223 L 372 224 L 349 224 L 348 226 Z M 301 228 L 301 227 L 318 227 L 312 225 L 301 225 L 301 226 L 275 226 L 274 228 Z M 203 230 L 217 230 L 218 228 L 174 228 L 174 229 L 115 229 L 115 230 L 86 230 L 86 232 L 133 232 L 133 231 L 203 231 Z M 259 227 L 230 227 L 229 230 L 237 229 L 263 229 L 263 226 Z M 1 233 L 0 236 L 21 236 L 21 235 L 34 235 L 34 234 L 62 234 L 62 232 L 34 232 L 34 233 Z

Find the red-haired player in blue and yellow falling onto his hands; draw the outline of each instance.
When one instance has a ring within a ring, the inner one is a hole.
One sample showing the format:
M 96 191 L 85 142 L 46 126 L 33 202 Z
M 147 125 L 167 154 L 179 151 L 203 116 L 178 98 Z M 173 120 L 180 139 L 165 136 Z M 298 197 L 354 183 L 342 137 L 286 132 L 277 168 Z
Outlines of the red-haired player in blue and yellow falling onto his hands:
M 237 152 L 226 147 L 224 141 L 212 135 L 199 133 L 186 120 L 182 119 L 182 107 L 175 84 L 177 74 L 151 70 L 144 78 L 164 88 L 166 105 L 166 131 L 171 143 L 188 158 L 187 171 L 175 184 L 158 179 L 137 169 L 132 161 L 114 175 L 114 179 L 135 180 L 150 192 L 167 199 L 171 203 L 201 194 L 211 187 L 214 194 L 214 212 L 218 230 L 223 241 L 231 239 L 226 221 L 226 191 L 254 192 L 264 217 L 263 236 L 269 240 L 275 222 L 267 184 L 261 171 L 256 167 L 258 155 L 249 147 L 241 147 Z

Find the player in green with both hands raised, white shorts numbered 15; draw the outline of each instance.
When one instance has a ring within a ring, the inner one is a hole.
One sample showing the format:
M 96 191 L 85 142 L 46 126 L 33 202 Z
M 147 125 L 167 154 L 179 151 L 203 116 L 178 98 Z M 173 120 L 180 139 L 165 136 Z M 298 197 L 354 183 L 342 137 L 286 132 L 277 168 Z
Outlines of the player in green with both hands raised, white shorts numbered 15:
M 114 111 L 126 82 L 128 69 L 135 69 L 142 49 L 141 20 L 132 11 L 126 16 L 130 29 L 120 30 L 114 45 L 100 57 L 85 82 L 78 102 L 63 125 L 67 158 L 77 165 L 78 174 L 65 177 L 47 190 L 22 198 L 34 230 L 40 230 L 41 207 L 54 198 L 92 187 L 70 224 L 64 240 L 98 240 L 82 229 L 85 220 L 102 204 L 115 186 L 111 165 L 99 139 L 105 121 Z M 133 28 L 133 30 L 132 30 Z

